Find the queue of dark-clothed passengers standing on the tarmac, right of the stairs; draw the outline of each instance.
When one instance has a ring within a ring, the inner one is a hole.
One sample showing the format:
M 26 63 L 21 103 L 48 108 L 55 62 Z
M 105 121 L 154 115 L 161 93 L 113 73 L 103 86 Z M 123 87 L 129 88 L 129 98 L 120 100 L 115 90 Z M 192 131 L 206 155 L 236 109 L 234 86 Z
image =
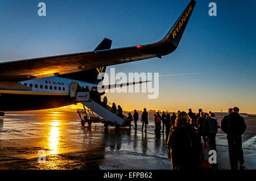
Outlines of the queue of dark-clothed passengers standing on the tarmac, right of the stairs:
M 217 118 L 213 112 L 205 113 L 199 109 L 197 115 L 189 109 L 188 113 L 182 111 L 177 114 L 172 112 L 159 112 L 154 115 L 155 132 L 164 132 L 168 136 L 168 158 L 171 159 L 173 170 L 186 170 L 186 169 L 199 169 L 201 163 L 205 159 L 203 154 L 203 143 L 209 141 L 209 150 L 216 150 L 216 134 L 218 128 L 227 134 L 229 146 L 229 160 L 231 169 L 238 169 L 238 162 L 240 169 L 243 169 L 243 150 L 241 134 L 245 132 L 246 124 L 242 116 L 239 115 L 239 108 L 229 108 L 229 115 L 225 116 L 221 125 L 218 123 Z M 131 116 L 134 120 L 135 129 L 137 129 L 138 112 L 134 110 L 134 115 Z M 148 113 L 146 108 L 142 113 L 142 131 L 145 126 L 147 131 Z M 217 151 L 217 150 L 216 150 Z M 216 166 L 214 164 L 213 166 Z

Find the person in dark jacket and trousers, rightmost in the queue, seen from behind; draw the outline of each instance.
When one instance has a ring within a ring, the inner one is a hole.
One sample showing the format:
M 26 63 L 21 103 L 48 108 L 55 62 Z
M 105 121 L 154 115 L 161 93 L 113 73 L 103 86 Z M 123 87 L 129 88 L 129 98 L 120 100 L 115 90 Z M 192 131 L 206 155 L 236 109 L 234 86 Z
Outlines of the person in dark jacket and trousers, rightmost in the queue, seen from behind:
M 227 134 L 229 145 L 229 161 L 232 170 L 244 169 L 242 134 L 246 130 L 245 120 L 239 115 L 239 108 L 234 107 L 230 115 L 225 116 L 221 121 L 221 130 Z

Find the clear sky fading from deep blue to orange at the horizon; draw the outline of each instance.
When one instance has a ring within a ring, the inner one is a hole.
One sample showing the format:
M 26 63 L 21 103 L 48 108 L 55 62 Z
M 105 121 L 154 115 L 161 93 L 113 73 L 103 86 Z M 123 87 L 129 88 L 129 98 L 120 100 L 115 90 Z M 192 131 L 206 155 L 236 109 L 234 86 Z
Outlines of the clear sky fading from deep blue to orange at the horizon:
M 47 16 L 38 16 L 38 3 Z M 208 15 L 216 2 L 217 16 Z M 0 62 L 93 50 L 104 37 L 112 48 L 154 43 L 170 30 L 189 1 L 0 1 Z M 197 1 L 175 52 L 112 66 L 116 72 L 202 73 L 160 77 L 159 99 L 109 94 L 132 109 L 256 113 L 256 1 Z M 109 69 L 107 70 L 107 72 Z M 121 100 L 123 99 L 123 100 Z M 196 111 L 196 110 L 195 110 Z

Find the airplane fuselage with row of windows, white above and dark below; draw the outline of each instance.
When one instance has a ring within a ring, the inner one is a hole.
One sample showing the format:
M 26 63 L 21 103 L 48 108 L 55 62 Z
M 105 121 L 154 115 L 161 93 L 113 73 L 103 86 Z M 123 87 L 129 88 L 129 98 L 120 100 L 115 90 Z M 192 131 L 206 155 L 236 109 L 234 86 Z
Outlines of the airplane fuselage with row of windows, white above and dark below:
M 19 82 L 31 87 L 31 91 L 0 90 L 0 111 L 28 111 L 57 108 L 77 103 L 69 96 L 72 82 L 81 87 L 93 86 L 92 83 L 61 77 L 46 77 Z

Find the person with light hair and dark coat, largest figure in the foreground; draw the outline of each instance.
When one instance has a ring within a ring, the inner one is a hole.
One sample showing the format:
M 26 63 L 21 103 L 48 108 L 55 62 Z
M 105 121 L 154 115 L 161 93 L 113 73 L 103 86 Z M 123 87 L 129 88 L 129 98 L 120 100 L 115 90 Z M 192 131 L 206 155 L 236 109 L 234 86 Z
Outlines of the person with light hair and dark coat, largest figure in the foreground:
M 171 128 L 167 144 L 172 170 L 189 170 L 200 166 L 200 137 L 190 121 L 186 112 L 180 112 Z

